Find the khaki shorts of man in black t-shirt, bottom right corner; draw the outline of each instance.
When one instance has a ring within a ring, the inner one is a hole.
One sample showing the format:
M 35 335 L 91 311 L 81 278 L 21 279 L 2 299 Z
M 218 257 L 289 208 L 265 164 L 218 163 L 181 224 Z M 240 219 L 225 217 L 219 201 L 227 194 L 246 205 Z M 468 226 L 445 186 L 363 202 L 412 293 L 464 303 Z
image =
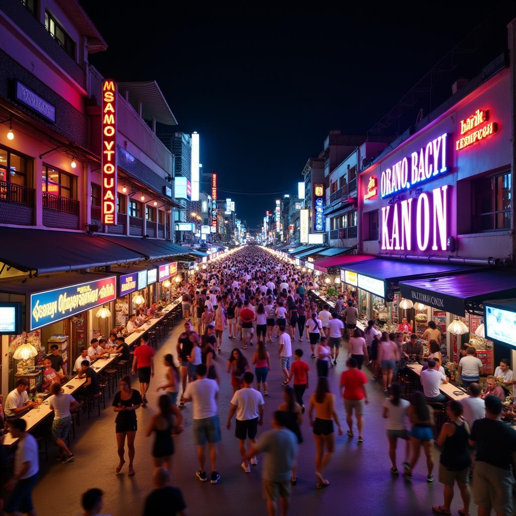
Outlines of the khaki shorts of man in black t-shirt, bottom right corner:
M 494 512 L 512 515 L 512 486 L 514 477 L 487 462 L 476 461 L 473 468 L 473 499 L 480 507 L 492 507 Z

